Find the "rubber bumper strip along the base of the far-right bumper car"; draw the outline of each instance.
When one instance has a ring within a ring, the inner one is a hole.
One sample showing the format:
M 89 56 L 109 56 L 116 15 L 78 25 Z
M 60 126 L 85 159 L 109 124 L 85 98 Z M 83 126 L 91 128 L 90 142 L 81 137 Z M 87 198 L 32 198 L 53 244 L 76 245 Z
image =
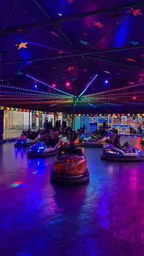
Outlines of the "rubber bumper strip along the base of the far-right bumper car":
M 101 155 L 101 159 L 105 161 L 117 161 L 117 162 L 139 162 L 144 161 L 144 156 L 106 156 Z

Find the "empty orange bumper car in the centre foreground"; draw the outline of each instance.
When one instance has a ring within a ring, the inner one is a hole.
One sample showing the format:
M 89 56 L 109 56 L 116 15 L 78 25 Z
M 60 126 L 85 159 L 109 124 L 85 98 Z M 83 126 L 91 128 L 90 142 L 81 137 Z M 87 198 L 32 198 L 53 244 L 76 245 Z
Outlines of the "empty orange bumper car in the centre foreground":
M 89 180 L 87 159 L 81 148 L 60 148 L 51 170 L 51 181 L 65 184 L 84 183 Z

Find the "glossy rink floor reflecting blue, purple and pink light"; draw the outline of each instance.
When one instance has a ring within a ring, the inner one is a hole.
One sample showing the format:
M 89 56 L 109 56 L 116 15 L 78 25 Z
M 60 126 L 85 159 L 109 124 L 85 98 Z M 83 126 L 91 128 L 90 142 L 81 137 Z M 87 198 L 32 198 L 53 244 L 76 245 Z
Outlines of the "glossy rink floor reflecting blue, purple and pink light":
M 144 163 L 85 148 L 90 182 L 60 186 L 50 183 L 53 157 L 26 152 L 0 145 L 0 255 L 144 255 Z

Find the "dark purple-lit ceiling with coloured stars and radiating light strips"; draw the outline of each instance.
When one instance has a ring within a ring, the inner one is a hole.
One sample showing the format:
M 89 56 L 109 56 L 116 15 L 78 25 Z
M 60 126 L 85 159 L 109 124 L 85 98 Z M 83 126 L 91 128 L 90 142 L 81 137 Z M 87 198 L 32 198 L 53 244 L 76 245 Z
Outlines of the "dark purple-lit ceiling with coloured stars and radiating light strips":
M 144 112 L 144 1 L 9 0 L 0 14 L 1 106 Z

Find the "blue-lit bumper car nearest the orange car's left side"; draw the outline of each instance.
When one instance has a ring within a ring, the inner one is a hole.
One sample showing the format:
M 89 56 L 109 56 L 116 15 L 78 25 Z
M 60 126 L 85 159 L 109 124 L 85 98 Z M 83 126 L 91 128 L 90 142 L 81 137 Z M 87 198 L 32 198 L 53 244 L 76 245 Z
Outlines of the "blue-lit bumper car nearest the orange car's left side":
M 36 145 L 33 145 L 27 153 L 29 158 L 43 158 L 46 156 L 57 155 L 60 148 L 60 141 L 57 142 L 54 147 L 47 147 L 43 141 L 38 142 Z

